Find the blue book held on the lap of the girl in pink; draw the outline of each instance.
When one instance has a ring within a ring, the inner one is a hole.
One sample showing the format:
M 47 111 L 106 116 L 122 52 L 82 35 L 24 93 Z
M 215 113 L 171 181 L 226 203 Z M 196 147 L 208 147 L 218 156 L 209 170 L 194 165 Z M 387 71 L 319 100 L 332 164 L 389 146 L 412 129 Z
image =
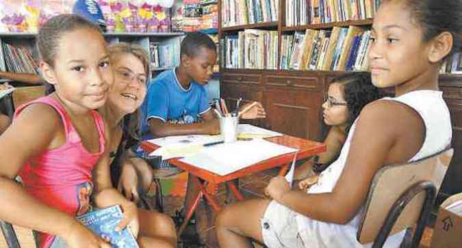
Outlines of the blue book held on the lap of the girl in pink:
M 123 230 L 116 232 L 116 226 L 122 220 L 123 214 L 120 206 L 111 206 L 109 208 L 101 208 L 77 216 L 77 221 L 86 225 L 88 229 L 101 237 L 107 237 L 114 248 L 139 248 L 135 238 L 125 227 Z

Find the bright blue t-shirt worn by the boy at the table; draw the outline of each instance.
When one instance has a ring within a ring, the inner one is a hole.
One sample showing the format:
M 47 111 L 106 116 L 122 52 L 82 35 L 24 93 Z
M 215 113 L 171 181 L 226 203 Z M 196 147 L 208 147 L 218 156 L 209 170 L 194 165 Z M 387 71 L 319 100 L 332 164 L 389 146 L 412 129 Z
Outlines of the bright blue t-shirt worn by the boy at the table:
M 142 105 L 142 132 L 149 133 L 148 120 L 161 119 L 169 123 L 194 123 L 198 116 L 210 109 L 205 88 L 191 82 L 185 89 L 179 83 L 175 70 L 164 71 L 151 84 Z M 144 138 L 152 136 L 145 135 Z

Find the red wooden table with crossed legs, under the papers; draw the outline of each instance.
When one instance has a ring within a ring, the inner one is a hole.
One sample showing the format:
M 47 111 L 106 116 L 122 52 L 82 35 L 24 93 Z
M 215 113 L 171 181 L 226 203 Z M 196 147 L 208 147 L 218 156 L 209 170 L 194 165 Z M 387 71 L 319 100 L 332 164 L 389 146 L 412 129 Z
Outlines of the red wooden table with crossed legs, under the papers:
M 266 138 L 266 140 L 274 142 L 279 145 L 283 145 L 285 147 L 292 147 L 295 149 L 298 149 L 297 151 L 297 160 L 301 160 L 304 158 L 308 158 L 310 156 L 317 155 L 319 153 L 322 153 L 326 151 L 326 145 L 320 143 L 320 142 L 315 142 L 311 140 L 306 140 L 303 138 L 296 138 L 293 136 L 288 136 L 288 135 L 283 135 L 283 136 L 277 136 L 277 137 L 272 137 L 272 138 Z M 154 151 L 155 149 L 159 148 L 157 145 L 154 145 L 153 143 L 150 142 L 142 142 L 142 148 L 147 151 L 151 152 Z M 265 171 L 277 166 L 282 166 L 281 171 L 279 171 L 279 175 L 285 175 L 287 172 L 287 168 L 289 164 L 292 162 L 294 159 L 294 153 L 287 153 L 283 154 L 281 156 L 277 156 L 274 158 L 270 158 L 268 160 L 263 160 L 261 162 L 258 162 L 257 164 L 253 164 L 251 166 L 248 166 L 244 169 L 240 169 L 239 171 L 235 171 L 233 173 L 230 173 L 228 175 L 216 175 L 215 173 L 211 173 L 210 171 L 206 171 L 204 169 L 198 168 L 196 166 L 193 166 L 191 164 L 187 164 L 185 162 L 179 161 L 179 158 L 172 158 L 168 160 L 170 164 L 174 164 L 175 166 L 178 166 L 179 168 L 188 171 L 188 173 L 191 173 L 192 175 L 195 175 L 196 177 L 199 177 L 204 180 L 204 182 L 198 182 L 198 185 L 201 185 L 201 190 L 198 193 L 198 195 L 194 198 L 194 201 L 192 203 L 192 206 L 188 208 L 188 212 L 185 216 L 185 220 L 181 224 L 178 230 L 178 236 L 181 234 L 183 231 L 184 227 L 186 226 L 186 223 L 191 219 L 192 213 L 194 210 L 196 210 L 198 201 L 201 199 L 201 197 L 205 197 L 207 199 L 207 202 L 213 208 L 216 212 L 220 210 L 220 207 L 218 206 L 218 203 L 216 199 L 214 198 L 213 195 L 211 195 L 209 192 L 206 190 L 206 186 L 208 184 L 208 188 L 218 188 L 218 184 L 221 183 L 227 183 L 229 189 L 231 192 L 235 195 L 235 197 L 238 200 L 244 199 L 244 197 L 241 195 L 239 192 L 238 188 L 231 182 L 233 179 L 238 179 L 240 177 L 245 177 L 247 175 L 251 175 L 252 173 L 256 173 L 258 171 Z M 215 190 L 211 190 L 215 191 Z

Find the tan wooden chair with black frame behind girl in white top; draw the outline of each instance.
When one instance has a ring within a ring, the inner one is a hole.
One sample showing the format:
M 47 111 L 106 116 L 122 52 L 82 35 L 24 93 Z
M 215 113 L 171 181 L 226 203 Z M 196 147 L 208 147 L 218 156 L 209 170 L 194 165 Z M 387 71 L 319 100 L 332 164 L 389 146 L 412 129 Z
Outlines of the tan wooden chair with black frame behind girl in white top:
M 411 247 L 418 247 L 452 158 L 453 149 L 408 164 L 383 166 L 369 189 L 357 240 L 383 247 L 391 234 L 415 227 Z

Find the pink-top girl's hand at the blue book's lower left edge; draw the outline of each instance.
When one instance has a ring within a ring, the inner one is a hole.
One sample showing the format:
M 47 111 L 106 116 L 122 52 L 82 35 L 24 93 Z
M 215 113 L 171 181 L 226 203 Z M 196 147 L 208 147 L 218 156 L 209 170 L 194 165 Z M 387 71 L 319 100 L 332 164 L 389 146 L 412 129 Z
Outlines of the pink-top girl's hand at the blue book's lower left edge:
M 86 247 L 99 247 L 111 248 L 112 246 L 107 240 L 97 236 L 92 231 L 88 230 L 84 225 L 73 221 L 67 234 L 63 236 L 69 248 L 86 248 Z

